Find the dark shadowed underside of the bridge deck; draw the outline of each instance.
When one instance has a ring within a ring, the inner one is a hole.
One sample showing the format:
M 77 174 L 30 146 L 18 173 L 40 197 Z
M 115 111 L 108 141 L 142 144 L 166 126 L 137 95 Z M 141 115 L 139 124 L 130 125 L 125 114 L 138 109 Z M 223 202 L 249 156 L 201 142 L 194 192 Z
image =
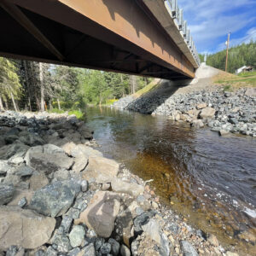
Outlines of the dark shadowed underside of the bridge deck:
M 83 19 L 83 27 L 90 27 L 93 32 L 89 30 L 84 33 L 79 27 L 74 29 L 72 26 L 63 24 L 64 22 L 57 22 L 16 5 L 14 8 L 20 11 L 21 17 L 15 17 L 17 13 L 14 14 L 9 9 L 3 8 L 0 8 L 0 34 L 2 35 L 0 55 L 161 79 L 177 80 L 193 77 L 192 72 L 186 72 L 187 69 L 181 70 L 172 67 L 170 63 L 166 64 L 166 61 L 162 61 L 160 57 L 146 52 L 136 44 L 125 42 L 127 40 L 109 32 L 90 19 Z M 71 15 L 79 14 L 72 12 Z M 31 21 L 32 27 L 41 32 L 44 40 L 36 38 L 31 26 L 27 26 L 22 19 Z M 100 33 L 99 37 L 95 36 L 96 32 Z M 50 42 L 55 50 L 49 48 L 45 40 Z

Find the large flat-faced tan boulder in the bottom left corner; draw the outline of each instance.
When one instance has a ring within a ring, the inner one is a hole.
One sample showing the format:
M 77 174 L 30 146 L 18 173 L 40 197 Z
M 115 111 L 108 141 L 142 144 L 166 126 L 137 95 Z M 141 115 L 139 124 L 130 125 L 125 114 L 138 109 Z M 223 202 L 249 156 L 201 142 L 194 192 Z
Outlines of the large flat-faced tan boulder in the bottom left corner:
M 0 207 L 0 250 L 11 245 L 34 249 L 49 241 L 55 218 L 20 207 Z

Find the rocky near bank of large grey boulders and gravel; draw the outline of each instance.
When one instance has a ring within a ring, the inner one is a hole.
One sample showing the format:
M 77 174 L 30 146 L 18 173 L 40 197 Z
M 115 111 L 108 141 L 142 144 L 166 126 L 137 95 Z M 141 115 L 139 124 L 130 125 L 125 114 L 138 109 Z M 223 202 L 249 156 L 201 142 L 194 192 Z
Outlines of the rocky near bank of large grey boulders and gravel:
M 95 147 L 75 116 L 0 113 L 0 255 L 238 255 Z

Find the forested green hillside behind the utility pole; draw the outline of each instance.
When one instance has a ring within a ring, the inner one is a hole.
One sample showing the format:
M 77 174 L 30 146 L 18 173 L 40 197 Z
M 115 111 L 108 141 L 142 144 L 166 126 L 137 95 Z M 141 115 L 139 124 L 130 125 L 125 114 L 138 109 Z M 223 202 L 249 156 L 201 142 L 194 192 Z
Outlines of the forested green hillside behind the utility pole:
M 203 58 L 203 55 L 200 56 Z M 225 69 L 226 50 L 207 55 L 207 65 L 218 69 Z M 256 42 L 241 44 L 229 50 L 228 72 L 235 73 L 236 69 L 243 66 L 256 68 Z

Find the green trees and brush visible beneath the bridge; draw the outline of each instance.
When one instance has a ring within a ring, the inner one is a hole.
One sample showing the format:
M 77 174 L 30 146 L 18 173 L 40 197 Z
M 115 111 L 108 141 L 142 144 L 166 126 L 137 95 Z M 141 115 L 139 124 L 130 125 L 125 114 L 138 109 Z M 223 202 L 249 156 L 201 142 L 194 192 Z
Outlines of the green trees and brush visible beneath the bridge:
M 0 109 L 75 111 L 110 105 L 152 79 L 90 69 L 0 58 Z

